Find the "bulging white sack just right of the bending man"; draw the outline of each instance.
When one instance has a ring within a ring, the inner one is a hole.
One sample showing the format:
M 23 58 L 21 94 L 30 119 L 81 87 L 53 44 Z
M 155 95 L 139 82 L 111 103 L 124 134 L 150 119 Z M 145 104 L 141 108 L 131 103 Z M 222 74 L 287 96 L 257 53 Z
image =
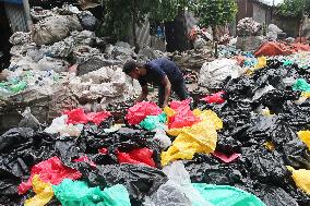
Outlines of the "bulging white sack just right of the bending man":
M 228 76 L 237 78 L 242 74 L 236 60 L 219 59 L 205 62 L 200 71 L 199 85 L 207 88 L 218 87 Z

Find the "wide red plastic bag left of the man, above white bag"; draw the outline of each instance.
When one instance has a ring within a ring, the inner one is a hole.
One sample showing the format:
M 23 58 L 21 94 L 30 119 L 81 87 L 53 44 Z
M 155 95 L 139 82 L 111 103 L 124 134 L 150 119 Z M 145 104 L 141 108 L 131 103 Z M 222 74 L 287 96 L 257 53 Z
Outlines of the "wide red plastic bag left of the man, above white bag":
M 86 124 L 87 122 L 94 122 L 97 125 L 111 116 L 111 113 L 108 111 L 97 113 L 92 112 L 86 114 L 81 108 L 65 111 L 64 114 L 68 116 L 67 124 Z

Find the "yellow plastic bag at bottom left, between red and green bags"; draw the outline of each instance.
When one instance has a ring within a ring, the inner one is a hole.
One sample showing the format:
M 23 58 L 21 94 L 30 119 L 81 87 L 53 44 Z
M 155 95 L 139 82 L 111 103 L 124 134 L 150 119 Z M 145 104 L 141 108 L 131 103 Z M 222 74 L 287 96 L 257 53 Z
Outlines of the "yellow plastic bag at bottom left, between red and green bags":
M 25 201 L 25 206 L 45 206 L 53 196 L 50 183 L 45 183 L 36 174 L 33 178 L 33 190 L 36 195 Z

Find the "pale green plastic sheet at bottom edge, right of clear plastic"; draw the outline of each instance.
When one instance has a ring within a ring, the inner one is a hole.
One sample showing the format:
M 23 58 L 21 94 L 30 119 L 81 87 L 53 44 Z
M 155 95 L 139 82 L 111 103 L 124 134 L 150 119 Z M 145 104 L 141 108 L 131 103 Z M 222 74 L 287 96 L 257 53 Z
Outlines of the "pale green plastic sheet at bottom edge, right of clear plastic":
M 203 198 L 214 206 L 265 206 L 257 196 L 228 185 L 192 183 Z

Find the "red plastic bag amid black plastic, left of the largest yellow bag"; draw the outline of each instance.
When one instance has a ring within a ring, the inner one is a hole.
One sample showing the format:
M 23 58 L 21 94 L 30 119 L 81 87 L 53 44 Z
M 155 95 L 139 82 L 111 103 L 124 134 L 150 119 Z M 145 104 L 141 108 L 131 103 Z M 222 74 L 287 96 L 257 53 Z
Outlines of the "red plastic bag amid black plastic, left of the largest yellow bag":
M 152 156 L 153 150 L 148 148 L 138 148 L 129 153 L 117 152 L 118 161 L 120 163 L 143 163 L 155 168 L 156 165 Z

